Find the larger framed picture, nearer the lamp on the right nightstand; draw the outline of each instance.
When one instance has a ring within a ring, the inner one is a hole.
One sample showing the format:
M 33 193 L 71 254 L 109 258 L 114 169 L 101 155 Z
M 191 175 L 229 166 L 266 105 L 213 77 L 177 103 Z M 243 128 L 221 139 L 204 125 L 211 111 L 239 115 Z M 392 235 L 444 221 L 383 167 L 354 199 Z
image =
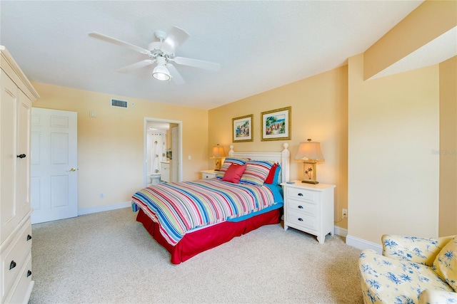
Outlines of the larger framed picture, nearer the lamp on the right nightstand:
M 261 140 L 291 139 L 291 107 L 261 113 Z

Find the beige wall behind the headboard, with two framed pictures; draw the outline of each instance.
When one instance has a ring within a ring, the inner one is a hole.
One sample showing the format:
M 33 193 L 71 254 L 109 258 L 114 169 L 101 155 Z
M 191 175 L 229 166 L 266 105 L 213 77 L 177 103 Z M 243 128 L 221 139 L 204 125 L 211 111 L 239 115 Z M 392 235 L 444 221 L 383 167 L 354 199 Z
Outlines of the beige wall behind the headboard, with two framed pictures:
M 321 142 L 326 162 L 318 164 L 317 179 L 336 184 L 336 225 L 346 228 L 341 209 L 347 208 L 347 66 L 330 70 L 296 83 L 268 90 L 229 105 L 209 110 L 209 148 L 222 145 L 226 153 L 232 144 L 232 118 L 253 114 L 253 142 L 233 144 L 236 151 L 282 150 L 288 142 L 291 158 L 300 142 L 311 138 Z M 291 140 L 261 141 L 261 112 L 292 107 Z M 208 167 L 214 162 L 209 159 Z M 303 178 L 303 164 L 291 161 L 291 179 Z

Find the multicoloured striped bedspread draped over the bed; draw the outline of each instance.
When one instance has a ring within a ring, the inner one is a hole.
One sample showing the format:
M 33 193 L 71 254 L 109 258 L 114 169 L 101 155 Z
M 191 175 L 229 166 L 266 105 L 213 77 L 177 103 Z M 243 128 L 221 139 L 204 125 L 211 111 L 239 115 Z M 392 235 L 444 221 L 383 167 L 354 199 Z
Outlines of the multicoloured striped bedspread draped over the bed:
M 139 208 L 159 223 L 161 234 L 176 245 L 191 229 L 220 223 L 274 204 L 268 187 L 232 184 L 216 179 L 156 184 L 132 196 Z

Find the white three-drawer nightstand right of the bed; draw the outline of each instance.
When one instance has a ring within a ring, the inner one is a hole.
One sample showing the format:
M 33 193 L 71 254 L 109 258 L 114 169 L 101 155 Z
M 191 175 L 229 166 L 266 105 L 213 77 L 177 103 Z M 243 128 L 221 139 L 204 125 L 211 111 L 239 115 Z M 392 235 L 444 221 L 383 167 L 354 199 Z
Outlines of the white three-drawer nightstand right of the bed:
M 323 243 L 333 236 L 333 184 L 282 183 L 284 190 L 284 230 L 292 227 L 317 236 Z

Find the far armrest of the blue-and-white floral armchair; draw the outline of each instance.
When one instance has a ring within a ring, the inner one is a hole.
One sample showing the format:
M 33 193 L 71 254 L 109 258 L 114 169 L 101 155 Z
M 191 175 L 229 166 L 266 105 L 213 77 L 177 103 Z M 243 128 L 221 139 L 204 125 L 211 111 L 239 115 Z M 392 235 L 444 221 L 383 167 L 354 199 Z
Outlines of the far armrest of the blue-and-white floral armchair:
M 381 237 L 383 256 L 431 267 L 441 248 L 452 238 L 453 236 L 443 236 L 437 239 L 424 239 L 414 236 L 384 234 Z

